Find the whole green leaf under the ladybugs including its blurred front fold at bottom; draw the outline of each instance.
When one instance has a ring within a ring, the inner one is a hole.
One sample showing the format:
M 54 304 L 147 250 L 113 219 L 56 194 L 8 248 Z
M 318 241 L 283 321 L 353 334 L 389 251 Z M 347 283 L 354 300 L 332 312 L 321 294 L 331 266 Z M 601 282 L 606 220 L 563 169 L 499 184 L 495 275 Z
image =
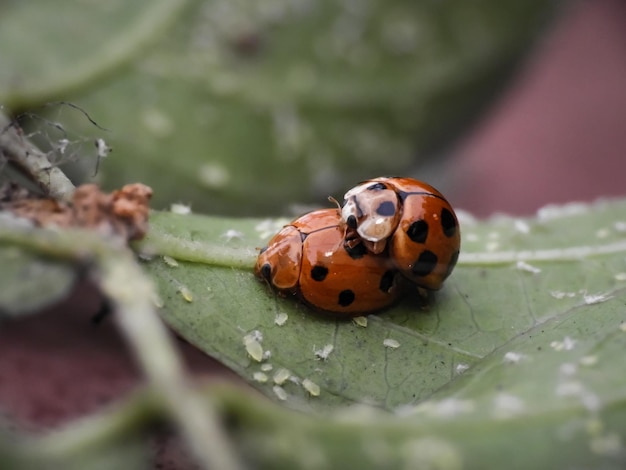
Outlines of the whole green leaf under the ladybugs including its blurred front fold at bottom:
M 172 257 L 145 264 L 163 318 L 271 400 L 314 416 L 232 398 L 255 465 L 623 467 L 626 201 L 534 219 L 460 215 L 462 257 L 444 288 L 426 309 L 409 298 L 366 328 L 254 278 L 255 249 L 285 221 L 154 215 L 145 249 Z M 271 356 L 255 360 L 246 337 Z

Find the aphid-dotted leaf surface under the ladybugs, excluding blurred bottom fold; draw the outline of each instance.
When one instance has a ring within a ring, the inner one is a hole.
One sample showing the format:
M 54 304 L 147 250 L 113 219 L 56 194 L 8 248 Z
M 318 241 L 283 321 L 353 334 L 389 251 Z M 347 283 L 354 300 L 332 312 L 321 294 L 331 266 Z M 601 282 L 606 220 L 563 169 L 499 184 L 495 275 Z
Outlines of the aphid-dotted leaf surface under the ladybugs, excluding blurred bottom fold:
M 155 214 L 146 247 L 178 261 L 157 256 L 146 269 L 159 285 L 163 318 L 192 344 L 274 400 L 274 374 L 289 371 L 278 381 L 292 408 L 397 410 L 458 395 L 471 401 L 470 415 L 484 416 L 500 405 L 506 413 L 511 397 L 520 410 L 508 411 L 521 413 L 626 398 L 617 386 L 626 385 L 620 356 L 609 353 L 626 338 L 626 203 L 462 221 L 459 265 L 427 308 L 408 298 L 369 316 L 366 328 L 312 314 L 254 277 L 255 249 L 284 221 Z M 288 316 L 282 326 L 279 314 Z M 250 357 L 247 335 L 271 356 Z M 386 339 L 398 347 L 385 347 Z M 320 359 L 316 351 L 327 345 L 332 352 Z M 319 397 L 309 396 L 305 379 L 320 386 Z M 570 381 L 581 387 L 572 396 Z

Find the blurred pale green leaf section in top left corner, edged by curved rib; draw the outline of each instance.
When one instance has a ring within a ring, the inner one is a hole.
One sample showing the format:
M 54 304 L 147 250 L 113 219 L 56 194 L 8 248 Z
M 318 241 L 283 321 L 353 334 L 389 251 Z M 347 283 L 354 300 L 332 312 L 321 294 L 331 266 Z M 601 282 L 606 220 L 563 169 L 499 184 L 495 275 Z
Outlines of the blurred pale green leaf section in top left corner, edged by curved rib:
M 0 103 L 40 104 L 101 79 L 154 41 L 185 0 L 0 5 Z

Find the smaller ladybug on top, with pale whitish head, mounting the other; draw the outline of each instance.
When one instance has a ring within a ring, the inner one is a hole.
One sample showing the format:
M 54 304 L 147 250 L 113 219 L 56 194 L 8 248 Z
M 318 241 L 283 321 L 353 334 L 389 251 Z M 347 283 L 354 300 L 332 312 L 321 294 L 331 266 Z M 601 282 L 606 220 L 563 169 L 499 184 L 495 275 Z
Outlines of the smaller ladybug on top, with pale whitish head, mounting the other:
M 348 234 L 356 232 L 372 254 L 387 253 L 419 287 L 440 289 L 458 260 L 461 231 L 454 209 L 439 191 L 413 178 L 360 183 L 345 194 L 341 218 Z

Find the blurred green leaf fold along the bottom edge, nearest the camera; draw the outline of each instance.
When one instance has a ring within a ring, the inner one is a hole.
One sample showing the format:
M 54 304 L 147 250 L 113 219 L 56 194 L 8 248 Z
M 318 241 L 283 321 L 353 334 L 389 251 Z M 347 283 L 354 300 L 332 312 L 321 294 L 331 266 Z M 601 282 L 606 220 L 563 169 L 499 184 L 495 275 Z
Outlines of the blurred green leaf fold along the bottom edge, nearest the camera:
M 624 402 L 554 413 L 483 414 L 472 402 L 394 416 L 356 406 L 332 417 L 288 412 L 223 387 L 239 448 L 258 468 L 622 469 Z M 506 402 L 501 400 L 500 402 Z

